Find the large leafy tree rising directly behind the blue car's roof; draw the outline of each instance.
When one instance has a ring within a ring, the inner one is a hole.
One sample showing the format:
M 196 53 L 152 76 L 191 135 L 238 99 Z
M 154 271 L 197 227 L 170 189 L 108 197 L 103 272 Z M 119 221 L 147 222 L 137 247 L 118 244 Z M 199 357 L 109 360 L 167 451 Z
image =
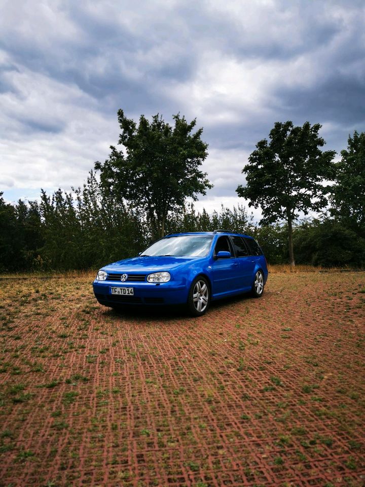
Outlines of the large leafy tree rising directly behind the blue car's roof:
M 163 236 L 170 212 L 182 208 L 187 197 L 197 200 L 212 185 L 200 170 L 207 157 L 207 144 L 201 140 L 203 129 L 193 132 L 196 120 L 188 123 L 179 114 L 174 126 L 159 114 L 152 122 L 144 115 L 137 124 L 118 111 L 122 130 L 118 144 L 101 164 L 100 179 L 116 200 L 127 200 L 145 212 L 154 238 Z

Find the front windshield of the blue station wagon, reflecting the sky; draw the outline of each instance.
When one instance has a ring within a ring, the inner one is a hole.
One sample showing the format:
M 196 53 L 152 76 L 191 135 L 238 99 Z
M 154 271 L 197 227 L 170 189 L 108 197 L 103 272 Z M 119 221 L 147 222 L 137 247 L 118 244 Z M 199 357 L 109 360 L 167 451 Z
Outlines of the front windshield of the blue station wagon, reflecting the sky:
M 204 257 L 209 252 L 213 235 L 176 235 L 162 238 L 141 256 Z

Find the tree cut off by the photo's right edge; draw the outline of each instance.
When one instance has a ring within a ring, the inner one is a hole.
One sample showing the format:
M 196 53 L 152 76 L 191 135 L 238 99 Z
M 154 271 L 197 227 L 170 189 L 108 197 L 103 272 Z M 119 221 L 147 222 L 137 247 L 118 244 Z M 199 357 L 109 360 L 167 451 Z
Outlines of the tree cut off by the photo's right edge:
M 365 132 L 349 135 L 347 150 L 336 164 L 335 184 L 331 188 L 331 213 L 347 226 L 365 231 Z

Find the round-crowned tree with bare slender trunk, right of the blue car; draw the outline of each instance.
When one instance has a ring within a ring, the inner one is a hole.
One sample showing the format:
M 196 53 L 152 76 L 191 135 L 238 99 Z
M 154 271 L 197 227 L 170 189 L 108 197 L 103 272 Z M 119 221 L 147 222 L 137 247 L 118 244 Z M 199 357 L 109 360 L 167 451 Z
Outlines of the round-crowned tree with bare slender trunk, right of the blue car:
M 260 223 L 286 221 L 289 260 L 295 265 L 293 222 L 299 213 L 319 211 L 327 204 L 329 187 L 324 180 L 333 177 L 335 151 L 321 151 L 325 142 L 318 135 L 320 124 L 295 127 L 293 122 L 276 122 L 267 139 L 256 145 L 242 170 L 246 186 L 236 189 L 249 199 L 249 206 L 262 209 Z

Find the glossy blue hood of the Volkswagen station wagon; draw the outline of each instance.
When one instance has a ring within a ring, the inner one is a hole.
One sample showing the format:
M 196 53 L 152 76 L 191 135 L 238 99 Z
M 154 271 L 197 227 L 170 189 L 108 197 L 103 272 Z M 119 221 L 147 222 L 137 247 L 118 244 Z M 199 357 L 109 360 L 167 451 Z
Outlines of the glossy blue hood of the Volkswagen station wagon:
M 176 269 L 198 260 L 196 257 L 132 257 L 105 265 L 105 272 L 156 272 Z

